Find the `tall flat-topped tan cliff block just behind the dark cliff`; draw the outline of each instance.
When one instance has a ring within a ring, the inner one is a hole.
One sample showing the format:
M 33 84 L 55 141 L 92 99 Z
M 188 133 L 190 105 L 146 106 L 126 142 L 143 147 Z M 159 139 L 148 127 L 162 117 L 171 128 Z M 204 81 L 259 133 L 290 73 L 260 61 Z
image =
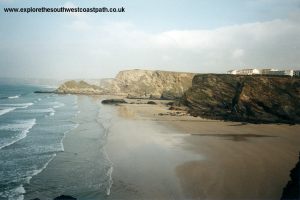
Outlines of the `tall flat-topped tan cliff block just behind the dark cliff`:
M 192 86 L 194 74 L 167 71 L 127 70 L 116 76 L 120 91 L 132 97 L 180 98 Z

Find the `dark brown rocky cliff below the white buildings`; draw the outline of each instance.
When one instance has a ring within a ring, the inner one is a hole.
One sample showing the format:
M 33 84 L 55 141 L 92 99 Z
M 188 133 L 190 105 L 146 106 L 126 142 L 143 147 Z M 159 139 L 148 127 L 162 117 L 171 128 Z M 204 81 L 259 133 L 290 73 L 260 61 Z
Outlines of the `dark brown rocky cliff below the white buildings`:
M 249 122 L 300 122 L 300 79 L 196 75 L 183 97 L 194 116 Z

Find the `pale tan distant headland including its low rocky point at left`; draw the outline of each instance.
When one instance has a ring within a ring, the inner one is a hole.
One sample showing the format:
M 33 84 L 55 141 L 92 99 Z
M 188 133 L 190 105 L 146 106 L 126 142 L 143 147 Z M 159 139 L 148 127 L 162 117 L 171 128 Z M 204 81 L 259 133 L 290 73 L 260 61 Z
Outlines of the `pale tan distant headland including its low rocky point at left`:
M 132 98 L 180 98 L 191 87 L 195 74 L 183 72 L 126 70 L 114 79 L 68 81 L 57 93 L 116 94 Z

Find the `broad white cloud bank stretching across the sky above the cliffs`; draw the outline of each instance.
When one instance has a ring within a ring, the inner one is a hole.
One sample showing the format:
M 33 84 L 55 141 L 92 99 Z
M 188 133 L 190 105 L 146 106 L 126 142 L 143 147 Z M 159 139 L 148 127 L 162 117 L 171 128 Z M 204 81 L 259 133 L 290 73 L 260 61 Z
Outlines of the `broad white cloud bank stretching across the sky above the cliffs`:
M 113 77 L 132 68 L 200 73 L 242 67 L 300 69 L 299 19 L 146 32 L 129 21 L 70 17 L 43 44 L 9 42 L 0 54 L 3 66 L 22 65 L 29 75 L 34 71 L 60 78 Z M 21 44 L 26 52 L 19 48 Z

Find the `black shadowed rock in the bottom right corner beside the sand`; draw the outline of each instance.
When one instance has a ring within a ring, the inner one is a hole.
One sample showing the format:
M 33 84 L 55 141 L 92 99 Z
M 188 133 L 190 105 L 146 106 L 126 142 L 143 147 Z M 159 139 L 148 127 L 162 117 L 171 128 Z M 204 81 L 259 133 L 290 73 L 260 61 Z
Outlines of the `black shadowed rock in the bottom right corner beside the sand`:
M 281 199 L 296 200 L 300 199 L 300 154 L 299 161 L 295 168 L 290 173 L 291 180 L 287 183 L 283 189 Z

